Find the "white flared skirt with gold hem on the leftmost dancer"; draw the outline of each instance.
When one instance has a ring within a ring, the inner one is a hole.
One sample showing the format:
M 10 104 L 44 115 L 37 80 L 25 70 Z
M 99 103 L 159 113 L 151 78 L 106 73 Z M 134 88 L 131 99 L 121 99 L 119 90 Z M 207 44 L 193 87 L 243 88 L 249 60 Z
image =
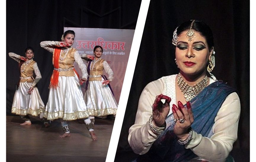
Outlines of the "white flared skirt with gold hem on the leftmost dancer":
M 19 88 L 15 91 L 12 113 L 17 115 L 33 115 L 37 116 L 44 112 L 44 103 L 38 92 L 37 87 L 34 87 L 31 95 L 28 94 L 32 83 L 20 82 Z

